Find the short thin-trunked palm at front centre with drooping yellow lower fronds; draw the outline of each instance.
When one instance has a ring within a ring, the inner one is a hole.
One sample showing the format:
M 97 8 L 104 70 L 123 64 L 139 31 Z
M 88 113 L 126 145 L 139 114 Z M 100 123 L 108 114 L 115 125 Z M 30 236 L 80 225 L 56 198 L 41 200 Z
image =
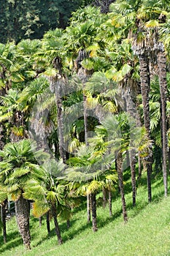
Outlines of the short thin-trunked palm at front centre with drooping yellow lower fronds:
M 99 181 L 101 175 L 102 159 L 99 152 L 93 146 L 82 145 L 77 148 L 76 157 L 71 157 L 67 161 L 70 165 L 66 168 L 64 179 L 71 181 L 74 187 L 76 184 L 77 195 L 90 195 L 90 211 L 92 215 L 93 231 L 97 230 L 96 216 L 96 193 L 98 189 L 104 187 L 104 182 Z

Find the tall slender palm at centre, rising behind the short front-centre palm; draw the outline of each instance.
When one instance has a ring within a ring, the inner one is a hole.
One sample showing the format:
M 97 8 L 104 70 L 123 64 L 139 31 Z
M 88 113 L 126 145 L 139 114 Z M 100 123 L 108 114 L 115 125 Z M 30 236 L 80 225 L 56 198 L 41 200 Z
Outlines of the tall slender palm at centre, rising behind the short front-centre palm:
M 87 10 L 86 10 L 87 12 Z M 78 11 L 77 11 L 78 13 Z M 72 49 L 72 56 L 76 56 L 77 59 L 74 61 L 77 76 L 80 78 L 82 83 L 83 91 L 83 117 L 84 117 L 84 131 L 85 131 L 85 144 L 88 146 L 88 113 L 87 113 L 87 97 L 85 95 L 85 82 L 87 82 L 89 75 L 92 74 L 90 70 L 83 67 L 82 62 L 89 58 L 89 52 L 86 50 L 90 45 L 93 44 L 93 39 L 97 34 L 98 26 L 95 23 L 100 23 L 93 18 L 93 8 L 89 8 L 88 15 L 90 18 L 85 17 L 85 22 L 78 23 L 75 20 L 77 13 L 74 14 L 71 22 L 71 26 L 66 30 L 67 34 L 65 37 L 69 38 L 67 46 L 69 50 Z M 96 26 L 95 26 L 96 25 Z M 87 214 L 88 222 L 90 222 L 90 195 L 87 194 Z

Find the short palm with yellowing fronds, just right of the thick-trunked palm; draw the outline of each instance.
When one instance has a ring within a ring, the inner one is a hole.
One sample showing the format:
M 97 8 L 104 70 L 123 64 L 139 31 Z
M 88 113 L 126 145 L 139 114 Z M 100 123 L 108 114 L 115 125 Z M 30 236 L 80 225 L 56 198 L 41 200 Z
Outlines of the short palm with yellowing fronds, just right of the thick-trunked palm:
M 58 244 L 63 244 L 58 225 L 58 207 L 63 198 L 56 176 L 62 176 L 64 168 L 65 165 L 62 159 L 59 162 L 55 162 L 54 159 L 46 162 L 42 166 L 42 179 L 39 181 L 34 178 L 29 180 L 24 193 L 26 198 L 34 200 L 33 214 L 35 217 L 41 217 L 46 213 L 49 214 L 49 211 L 51 212 L 55 224 L 55 233 L 58 237 Z M 49 227 L 47 230 L 49 231 Z

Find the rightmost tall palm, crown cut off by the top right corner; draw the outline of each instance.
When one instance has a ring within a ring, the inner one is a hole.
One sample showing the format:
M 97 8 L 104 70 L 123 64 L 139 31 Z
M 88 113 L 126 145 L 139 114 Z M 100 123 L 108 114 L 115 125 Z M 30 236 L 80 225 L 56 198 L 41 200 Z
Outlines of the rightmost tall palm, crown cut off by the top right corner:
M 155 12 L 156 10 L 156 12 Z M 169 1 L 159 1 L 158 3 L 154 1 L 142 1 L 142 7 L 139 9 L 139 16 L 141 20 L 144 20 L 145 27 L 150 29 L 150 52 L 153 56 L 158 56 L 158 77 L 159 86 L 161 93 L 161 138 L 162 138 L 162 156 L 163 156 L 163 184 L 164 184 L 164 194 L 168 194 L 168 183 L 167 183 L 167 125 L 166 125 L 166 94 L 167 94 L 167 84 L 166 84 L 166 53 L 164 50 L 163 41 L 160 37 L 159 26 L 166 23 L 166 15 L 170 11 Z M 147 30 L 149 31 L 149 30 Z M 149 33 L 147 33 L 149 34 Z M 151 56 L 151 57 L 152 57 Z

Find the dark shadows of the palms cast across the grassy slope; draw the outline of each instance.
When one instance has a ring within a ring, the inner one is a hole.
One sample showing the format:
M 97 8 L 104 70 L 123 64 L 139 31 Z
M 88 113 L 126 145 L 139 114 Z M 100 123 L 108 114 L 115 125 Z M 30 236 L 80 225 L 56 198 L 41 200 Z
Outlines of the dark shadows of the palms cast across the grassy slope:
M 125 174 L 123 173 L 124 180 L 125 180 L 125 195 L 127 194 L 131 194 L 131 173 L 129 172 L 129 170 L 127 170 L 125 172 Z M 162 198 L 163 198 L 163 186 L 161 186 L 161 184 L 163 184 L 163 178 L 162 175 L 160 174 L 159 176 L 152 176 L 152 189 L 153 189 L 153 193 L 152 193 L 152 202 L 153 203 L 158 203 Z M 144 173 L 144 176 L 142 176 L 138 181 L 136 181 L 136 187 L 137 187 L 137 193 L 138 193 L 138 189 L 139 187 L 142 187 L 143 189 L 146 189 L 146 193 L 147 193 L 147 177 Z M 112 194 L 112 205 L 114 206 L 114 200 L 117 200 L 117 198 L 120 198 L 120 192 L 117 189 L 115 192 L 113 192 Z M 102 205 L 102 201 L 98 200 L 98 206 Z M 136 215 L 138 215 L 142 209 L 144 209 L 146 206 L 148 205 L 147 203 L 147 198 L 142 198 L 142 197 L 136 197 L 136 207 L 132 206 L 132 199 L 128 200 L 128 203 L 126 204 L 127 210 L 131 211 L 131 217 L 136 217 Z M 74 208 L 73 210 L 73 214 L 80 212 L 80 211 L 85 211 L 86 209 L 86 198 L 83 197 L 82 198 L 82 204 L 77 207 Z M 83 215 L 85 214 L 85 212 L 83 213 Z M 119 209 L 117 209 L 117 211 L 114 212 L 112 217 L 98 217 L 98 229 L 100 229 L 101 227 L 104 227 L 106 225 L 108 225 L 110 222 L 115 221 L 115 219 L 119 218 L 120 216 L 122 216 L 122 210 L 121 207 Z M 123 217 L 122 217 L 122 221 L 123 221 Z M 43 222 L 44 222 L 44 226 L 45 226 L 45 217 L 43 218 Z M 53 222 L 53 220 L 52 220 Z M 69 228 L 69 230 L 67 229 L 66 226 L 66 222 L 62 222 L 59 226 L 61 229 L 61 236 L 63 238 L 63 242 L 65 243 L 66 241 L 72 240 L 75 236 L 78 236 L 80 233 L 82 233 L 85 230 L 90 230 L 92 228 L 91 223 L 89 224 L 84 224 L 80 227 L 78 227 L 77 229 L 74 228 L 75 223 L 77 222 L 77 219 L 71 219 L 71 227 Z M 33 241 L 36 238 L 36 232 L 34 232 L 34 229 L 38 227 L 39 225 L 39 219 L 36 218 L 31 218 L 31 240 Z M 41 227 L 40 227 L 41 228 Z M 91 232 L 93 232 L 91 230 Z M 35 242 L 34 246 L 32 246 L 33 248 L 36 246 L 39 246 L 40 244 L 42 244 L 44 241 L 47 241 L 50 238 L 56 237 L 56 245 L 58 245 L 58 239 L 57 236 L 55 234 L 55 229 L 53 228 L 53 230 L 51 230 L 50 235 L 44 235 L 43 238 L 39 238 L 39 241 L 37 241 L 37 243 Z M 12 249 L 14 247 L 17 247 L 21 244 L 23 244 L 22 239 L 20 238 L 20 235 L 18 234 L 18 232 L 13 232 L 13 233 L 9 233 L 7 235 L 7 244 L 3 243 L 3 238 L 0 239 L 0 255 L 2 252 Z

